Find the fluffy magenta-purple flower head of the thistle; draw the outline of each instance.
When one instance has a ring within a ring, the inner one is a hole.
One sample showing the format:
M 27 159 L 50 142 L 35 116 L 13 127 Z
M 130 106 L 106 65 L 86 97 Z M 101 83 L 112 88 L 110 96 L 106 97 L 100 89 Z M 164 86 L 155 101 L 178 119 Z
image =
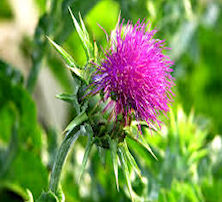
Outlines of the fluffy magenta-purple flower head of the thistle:
M 169 110 L 172 101 L 173 62 L 163 53 L 164 40 L 153 38 L 156 30 L 150 30 L 148 23 L 128 21 L 124 28 L 123 22 L 114 31 L 105 58 L 95 64 L 93 94 L 102 92 L 109 102 L 106 109 L 112 108 L 116 118 L 122 114 L 125 124 L 134 115 L 150 127 L 160 125 L 158 116 Z

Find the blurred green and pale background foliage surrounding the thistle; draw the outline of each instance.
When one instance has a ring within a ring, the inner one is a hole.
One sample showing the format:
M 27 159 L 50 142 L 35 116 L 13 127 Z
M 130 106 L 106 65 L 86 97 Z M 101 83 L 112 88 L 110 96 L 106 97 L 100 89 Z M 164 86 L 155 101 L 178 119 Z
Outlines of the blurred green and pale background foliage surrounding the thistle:
M 62 129 L 72 107 L 56 100 L 72 93 L 68 70 L 45 36 L 84 65 L 86 56 L 68 6 L 80 12 L 99 50 L 118 15 L 139 18 L 166 39 L 175 61 L 175 102 L 158 134 L 144 131 L 159 161 L 133 145 L 144 176 L 132 175 L 141 201 L 222 201 L 222 4 L 211 0 L 1 0 L 0 1 L 0 201 L 31 201 L 47 190 Z M 86 140 L 67 160 L 66 201 L 130 201 L 120 173 L 120 192 L 107 155 L 103 166 L 92 150 L 78 182 Z M 133 151 L 134 151 L 133 150 Z

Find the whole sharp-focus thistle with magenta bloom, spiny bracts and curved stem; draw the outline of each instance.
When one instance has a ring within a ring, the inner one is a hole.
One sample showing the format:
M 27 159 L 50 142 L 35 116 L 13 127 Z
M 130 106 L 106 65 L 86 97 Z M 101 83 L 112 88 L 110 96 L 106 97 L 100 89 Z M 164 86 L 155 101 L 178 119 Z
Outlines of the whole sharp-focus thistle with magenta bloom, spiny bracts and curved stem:
M 120 17 L 111 36 L 106 34 L 108 48 L 103 50 L 104 57 L 100 58 L 97 45 L 91 43 L 81 16 L 78 23 L 71 10 L 70 13 L 85 49 L 87 63 L 79 67 L 62 47 L 48 38 L 76 83 L 72 95 L 58 95 L 72 104 L 76 116 L 64 130 L 66 136 L 57 152 L 49 191 L 39 200 L 47 194 L 59 195 L 59 180 L 66 156 L 80 135 L 88 136 L 80 178 L 90 150 L 96 145 L 104 153 L 110 151 L 117 189 L 120 167 L 134 200 L 137 195 L 131 186 L 130 171 L 134 170 L 139 177 L 141 172 L 127 139 L 137 142 L 156 158 L 142 131 L 143 127 L 150 128 L 150 131 L 160 127 L 158 116 L 169 110 L 174 85 L 170 74 L 173 62 L 163 53 L 167 49 L 164 41 L 154 39 L 156 30 L 151 30 L 149 23 L 138 20 L 135 25 L 131 21 L 125 25 Z

